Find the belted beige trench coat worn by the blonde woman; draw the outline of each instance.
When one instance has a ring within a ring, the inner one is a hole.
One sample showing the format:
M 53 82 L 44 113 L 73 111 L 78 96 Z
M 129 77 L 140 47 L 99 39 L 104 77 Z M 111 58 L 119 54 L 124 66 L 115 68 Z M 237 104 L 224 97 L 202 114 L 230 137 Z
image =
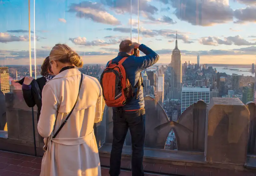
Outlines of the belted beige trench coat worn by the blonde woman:
M 59 134 L 52 139 L 76 102 L 80 79 L 80 71 L 73 68 L 60 72 L 44 86 L 37 129 L 48 148 L 40 176 L 101 175 L 93 124 L 101 120 L 105 103 L 96 78 L 83 75 L 76 107 Z

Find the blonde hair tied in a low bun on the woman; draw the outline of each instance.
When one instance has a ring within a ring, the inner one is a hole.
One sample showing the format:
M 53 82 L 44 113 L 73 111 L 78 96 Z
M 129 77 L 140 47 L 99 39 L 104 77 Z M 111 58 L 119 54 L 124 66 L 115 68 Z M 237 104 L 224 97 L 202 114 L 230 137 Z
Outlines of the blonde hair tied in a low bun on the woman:
M 50 52 L 50 62 L 52 60 L 61 63 L 71 63 L 76 67 L 82 67 L 84 64 L 82 58 L 66 44 L 56 44 L 53 46 Z

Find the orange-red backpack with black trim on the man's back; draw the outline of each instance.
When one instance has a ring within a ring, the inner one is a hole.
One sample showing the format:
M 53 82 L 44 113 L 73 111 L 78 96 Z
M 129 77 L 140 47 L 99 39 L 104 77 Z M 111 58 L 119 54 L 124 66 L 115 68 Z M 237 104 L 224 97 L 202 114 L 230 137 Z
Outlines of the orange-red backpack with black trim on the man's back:
M 133 95 L 132 86 L 122 65 L 126 59 L 127 57 L 124 57 L 119 62 L 110 60 L 101 74 L 100 85 L 108 107 L 122 107 L 126 104 L 127 98 Z

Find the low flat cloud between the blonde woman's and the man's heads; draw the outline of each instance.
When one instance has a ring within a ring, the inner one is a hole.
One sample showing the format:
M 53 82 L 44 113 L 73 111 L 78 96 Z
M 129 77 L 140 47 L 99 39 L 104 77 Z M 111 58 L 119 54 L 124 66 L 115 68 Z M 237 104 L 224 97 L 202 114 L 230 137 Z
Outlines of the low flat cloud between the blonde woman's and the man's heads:
M 107 46 L 112 44 L 119 44 L 120 41 L 117 41 L 116 39 L 108 38 L 108 41 L 105 40 L 93 40 L 93 41 L 87 41 L 85 37 L 76 37 L 76 38 L 69 38 L 69 40 L 76 45 L 83 45 L 83 46 Z

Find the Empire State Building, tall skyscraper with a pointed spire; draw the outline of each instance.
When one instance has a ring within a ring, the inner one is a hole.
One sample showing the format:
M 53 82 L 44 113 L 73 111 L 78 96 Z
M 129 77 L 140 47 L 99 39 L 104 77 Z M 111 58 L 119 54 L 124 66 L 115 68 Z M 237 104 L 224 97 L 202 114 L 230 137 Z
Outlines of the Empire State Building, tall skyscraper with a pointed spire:
M 171 61 L 171 99 L 181 99 L 181 67 L 181 54 L 178 48 L 176 32 L 176 44 L 172 51 Z

